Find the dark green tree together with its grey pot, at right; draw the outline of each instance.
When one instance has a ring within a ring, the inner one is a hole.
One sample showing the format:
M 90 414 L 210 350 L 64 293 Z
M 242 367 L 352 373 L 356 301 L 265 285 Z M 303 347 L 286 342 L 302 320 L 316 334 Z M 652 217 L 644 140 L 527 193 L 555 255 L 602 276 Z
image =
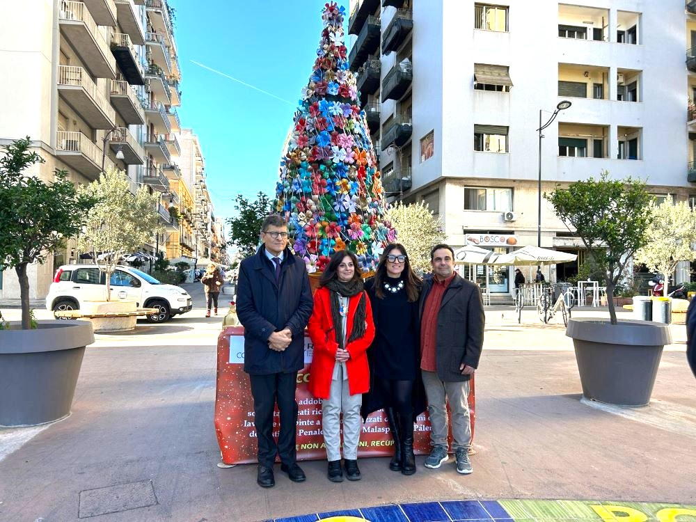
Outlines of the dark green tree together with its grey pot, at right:
M 557 216 L 575 230 L 595 264 L 601 267 L 607 295 L 622 277 L 635 252 L 648 241 L 652 196 L 645 184 L 630 177 L 571 183 L 544 194 Z M 609 320 L 570 319 L 566 335 L 573 339 L 583 395 L 591 400 L 642 406 L 650 395 L 665 344 L 672 342 L 669 326 L 633 319 L 617 320 L 614 301 L 608 301 Z

